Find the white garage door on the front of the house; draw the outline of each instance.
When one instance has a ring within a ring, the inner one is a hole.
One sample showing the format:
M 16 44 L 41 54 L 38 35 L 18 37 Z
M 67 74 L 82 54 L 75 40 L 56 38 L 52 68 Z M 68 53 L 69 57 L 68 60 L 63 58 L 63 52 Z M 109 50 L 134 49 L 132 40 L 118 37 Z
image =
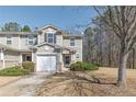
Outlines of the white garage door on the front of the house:
M 36 71 L 53 71 L 56 70 L 56 56 L 41 55 L 36 58 Z

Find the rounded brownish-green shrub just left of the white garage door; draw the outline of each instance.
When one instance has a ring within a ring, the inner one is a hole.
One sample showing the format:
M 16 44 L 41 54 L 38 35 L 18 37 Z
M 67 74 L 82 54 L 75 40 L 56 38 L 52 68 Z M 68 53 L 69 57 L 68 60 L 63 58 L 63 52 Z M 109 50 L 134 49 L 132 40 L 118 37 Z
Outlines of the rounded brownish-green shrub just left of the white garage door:
M 24 61 L 22 63 L 22 67 L 26 69 L 29 72 L 33 72 L 35 64 L 33 61 Z

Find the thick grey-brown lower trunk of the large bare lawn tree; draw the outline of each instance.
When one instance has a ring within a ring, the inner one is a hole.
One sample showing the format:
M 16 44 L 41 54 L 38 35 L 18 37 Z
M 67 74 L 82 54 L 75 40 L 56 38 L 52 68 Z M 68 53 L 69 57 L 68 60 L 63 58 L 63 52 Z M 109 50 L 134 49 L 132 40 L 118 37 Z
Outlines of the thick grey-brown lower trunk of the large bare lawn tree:
M 118 65 L 118 78 L 117 78 L 117 86 L 118 87 L 126 87 L 126 64 L 129 53 L 124 54 L 121 52 L 120 54 L 120 65 Z

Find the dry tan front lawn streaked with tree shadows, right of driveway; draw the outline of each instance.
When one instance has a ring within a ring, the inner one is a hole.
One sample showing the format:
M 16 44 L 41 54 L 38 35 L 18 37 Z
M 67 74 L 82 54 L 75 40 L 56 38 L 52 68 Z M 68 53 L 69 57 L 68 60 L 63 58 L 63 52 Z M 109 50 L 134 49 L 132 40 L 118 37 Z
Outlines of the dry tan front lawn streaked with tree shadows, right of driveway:
M 104 95 L 136 95 L 136 81 L 128 78 L 128 89 L 121 89 L 115 86 L 115 69 L 98 71 L 69 71 L 55 73 L 46 80 L 43 86 L 36 89 L 36 95 L 46 97 L 104 97 Z

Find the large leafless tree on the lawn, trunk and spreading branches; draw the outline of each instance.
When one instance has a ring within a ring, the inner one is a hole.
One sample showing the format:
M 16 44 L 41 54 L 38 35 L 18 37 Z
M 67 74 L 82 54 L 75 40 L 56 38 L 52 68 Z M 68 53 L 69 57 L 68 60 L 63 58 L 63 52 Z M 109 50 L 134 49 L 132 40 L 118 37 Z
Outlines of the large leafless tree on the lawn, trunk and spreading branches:
M 117 84 L 126 87 L 126 64 L 136 45 L 136 7 L 94 7 L 102 21 L 120 39 Z

